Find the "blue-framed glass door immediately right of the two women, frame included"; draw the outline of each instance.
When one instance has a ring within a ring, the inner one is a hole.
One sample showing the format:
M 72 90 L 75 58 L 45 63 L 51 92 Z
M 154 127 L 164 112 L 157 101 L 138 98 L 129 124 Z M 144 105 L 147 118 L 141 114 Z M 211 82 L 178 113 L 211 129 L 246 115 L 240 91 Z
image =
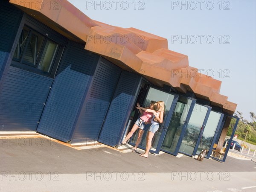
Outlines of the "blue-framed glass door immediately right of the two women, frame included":
M 172 119 L 164 127 L 161 151 L 177 156 L 195 101 L 192 98 L 179 96 Z

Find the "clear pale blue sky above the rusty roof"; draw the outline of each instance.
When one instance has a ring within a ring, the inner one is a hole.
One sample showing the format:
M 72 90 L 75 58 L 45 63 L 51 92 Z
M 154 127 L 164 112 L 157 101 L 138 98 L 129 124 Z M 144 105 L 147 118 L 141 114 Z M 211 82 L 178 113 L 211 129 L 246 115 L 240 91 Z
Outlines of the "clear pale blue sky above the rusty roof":
M 251 121 L 256 113 L 255 0 L 69 0 L 85 15 L 168 40 L 189 66 L 222 81 L 220 94 Z

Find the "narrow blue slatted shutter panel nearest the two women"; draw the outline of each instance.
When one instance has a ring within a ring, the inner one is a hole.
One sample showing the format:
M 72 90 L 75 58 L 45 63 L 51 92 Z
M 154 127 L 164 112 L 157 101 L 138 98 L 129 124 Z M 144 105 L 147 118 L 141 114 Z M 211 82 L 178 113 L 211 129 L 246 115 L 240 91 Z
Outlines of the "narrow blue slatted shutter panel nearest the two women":
M 118 145 L 134 108 L 140 83 L 141 76 L 127 71 L 122 72 L 99 137 L 100 143 Z

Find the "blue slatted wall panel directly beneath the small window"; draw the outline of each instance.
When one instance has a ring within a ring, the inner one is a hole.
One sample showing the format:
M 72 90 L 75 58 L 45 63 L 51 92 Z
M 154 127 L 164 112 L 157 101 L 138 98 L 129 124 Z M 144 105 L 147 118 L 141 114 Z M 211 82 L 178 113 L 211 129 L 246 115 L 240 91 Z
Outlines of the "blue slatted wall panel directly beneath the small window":
M 52 81 L 10 66 L 0 94 L 0 130 L 35 131 Z

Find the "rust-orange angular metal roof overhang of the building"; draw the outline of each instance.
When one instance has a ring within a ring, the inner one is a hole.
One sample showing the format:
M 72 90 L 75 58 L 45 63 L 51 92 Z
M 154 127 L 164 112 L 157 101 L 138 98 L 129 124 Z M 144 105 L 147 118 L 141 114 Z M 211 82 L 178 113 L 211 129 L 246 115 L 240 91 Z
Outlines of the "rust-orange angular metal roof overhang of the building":
M 92 20 L 67 0 L 52 1 L 58 4 L 51 9 L 49 0 L 9 2 L 70 40 L 85 43 L 84 49 L 140 73 L 158 86 L 166 84 L 181 93 L 191 91 L 229 115 L 236 111 L 237 104 L 220 94 L 221 81 L 190 67 L 188 56 L 169 50 L 166 38 Z

